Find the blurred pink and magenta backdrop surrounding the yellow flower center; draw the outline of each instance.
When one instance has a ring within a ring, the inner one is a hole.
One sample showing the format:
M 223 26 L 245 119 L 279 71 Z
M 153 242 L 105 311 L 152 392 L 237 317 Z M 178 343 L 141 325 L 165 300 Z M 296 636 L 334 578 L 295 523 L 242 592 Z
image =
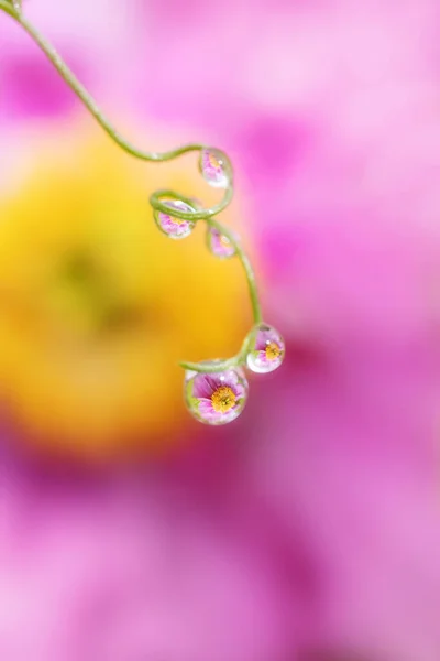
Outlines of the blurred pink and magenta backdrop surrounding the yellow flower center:
M 170 462 L 4 453 L 0 658 L 438 661 L 437 1 L 25 11 L 110 116 L 231 154 L 288 358 Z M 0 40 L 4 182 L 12 131 L 81 109 L 7 17 Z

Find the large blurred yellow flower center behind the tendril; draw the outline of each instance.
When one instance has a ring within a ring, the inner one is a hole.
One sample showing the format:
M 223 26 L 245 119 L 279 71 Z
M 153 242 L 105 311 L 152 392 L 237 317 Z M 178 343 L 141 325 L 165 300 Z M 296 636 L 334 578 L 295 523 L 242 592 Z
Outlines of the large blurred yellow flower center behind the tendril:
M 153 165 L 107 138 L 48 139 L 0 198 L 2 404 L 24 438 L 55 453 L 163 448 L 189 420 L 178 360 L 234 354 L 250 321 L 240 264 L 210 257 L 205 224 L 185 241 L 164 237 L 148 195 L 218 195 L 195 155 Z

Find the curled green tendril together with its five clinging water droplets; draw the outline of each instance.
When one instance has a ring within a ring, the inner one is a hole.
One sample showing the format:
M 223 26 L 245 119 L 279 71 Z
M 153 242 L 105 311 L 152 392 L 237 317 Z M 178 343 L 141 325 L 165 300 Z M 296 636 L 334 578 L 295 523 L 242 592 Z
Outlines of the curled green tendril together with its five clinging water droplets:
M 8 2 L 20 15 L 22 0 L 8 0 Z M 147 161 L 167 161 L 189 151 L 199 151 L 199 170 L 202 177 L 210 186 L 226 191 L 222 203 L 211 209 L 204 209 L 199 203 L 190 198 L 172 192 L 158 192 L 151 197 L 154 219 L 158 229 L 175 240 L 185 239 L 191 234 L 198 220 L 206 220 L 207 246 L 210 252 L 220 259 L 240 257 L 246 270 L 253 295 L 254 316 L 258 318 L 260 310 L 258 304 L 255 305 L 256 293 L 252 284 L 253 273 L 249 261 L 241 250 L 238 237 L 215 219 L 215 216 L 223 210 L 232 198 L 233 173 L 228 156 L 218 149 L 195 144 L 164 154 L 151 154 L 133 149 L 97 110 L 97 106 L 88 93 L 84 89 L 78 93 L 79 87 L 75 77 L 51 45 L 29 26 L 26 31 L 46 53 L 67 84 L 77 93 L 91 115 L 125 151 Z M 272 326 L 257 324 L 245 338 L 240 354 L 234 358 L 226 361 L 212 361 L 208 365 L 188 364 L 194 367 L 185 375 L 185 401 L 188 410 L 197 420 L 206 424 L 221 425 L 232 422 L 243 411 L 248 401 L 249 383 L 244 367 L 256 373 L 272 372 L 282 365 L 284 356 L 285 344 L 280 334 Z

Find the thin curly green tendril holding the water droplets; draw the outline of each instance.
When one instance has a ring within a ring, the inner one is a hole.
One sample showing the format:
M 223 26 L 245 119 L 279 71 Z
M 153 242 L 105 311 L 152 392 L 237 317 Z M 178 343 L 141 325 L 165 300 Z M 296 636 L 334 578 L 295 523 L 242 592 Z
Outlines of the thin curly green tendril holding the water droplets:
M 0 10 L 9 14 L 12 19 L 14 19 L 19 25 L 31 36 L 31 39 L 40 46 L 40 48 L 45 53 L 47 58 L 57 69 L 62 78 L 67 83 L 67 85 L 72 88 L 72 90 L 76 94 L 76 96 L 82 101 L 89 112 L 95 117 L 101 128 L 108 133 L 108 136 L 125 152 L 131 154 L 136 159 L 141 159 L 143 161 L 153 161 L 153 162 L 165 162 L 176 159 L 183 154 L 190 152 L 198 152 L 199 156 L 206 150 L 211 150 L 212 148 L 207 147 L 205 144 L 191 143 L 185 144 L 183 147 L 178 147 L 172 151 L 167 152 L 150 152 L 142 151 L 133 145 L 131 142 L 125 140 L 111 124 L 111 122 L 107 119 L 100 108 L 97 106 L 95 99 L 89 95 L 84 85 L 76 78 L 73 72 L 67 67 L 65 62 L 55 51 L 55 48 L 50 44 L 45 37 L 26 20 L 26 18 L 22 13 L 21 0 L 0 0 Z M 222 163 L 228 172 L 228 185 L 224 191 L 223 198 L 221 202 L 210 208 L 199 208 L 188 212 L 179 208 L 173 208 L 173 216 L 184 220 L 190 220 L 193 223 L 205 220 L 207 225 L 220 232 L 220 235 L 224 236 L 231 246 L 234 249 L 234 253 L 240 259 L 249 285 L 249 293 L 252 303 L 252 311 L 254 316 L 255 325 L 262 322 L 262 312 L 261 305 L 256 289 L 255 274 L 252 268 L 252 264 L 241 247 L 239 239 L 231 232 L 227 227 L 224 227 L 219 220 L 217 220 L 218 214 L 227 208 L 227 206 L 231 203 L 233 197 L 233 170 L 232 164 L 224 152 L 220 150 L 213 150 L 218 155 L 220 155 Z M 166 199 L 178 199 L 187 203 L 189 206 L 194 205 L 194 201 L 190 198 L 179 195 L 173 191 L 156 191 L 150 197 L 150 203 L 155 212 L 162 212 L 164 214 L 169 213 L 169 206 L 166 205 Z M 252 332 L 251 332 L 252 333 Z M 244 365 L 246 361 L 246 354 L 250 345 L 250 336 L 249 334 L 243 342 L 243 345 L 240 351 L 233 356 L 232 358 L 226 360 L 216 360 L 211 362 L 180 362 L 180 366 L 185 369 L 193 370 L 196 372 L 202 373 L 212 373 L 220 372 L 223 370 L 228 370 L 233 367 L 238 367 L 240 365 Z

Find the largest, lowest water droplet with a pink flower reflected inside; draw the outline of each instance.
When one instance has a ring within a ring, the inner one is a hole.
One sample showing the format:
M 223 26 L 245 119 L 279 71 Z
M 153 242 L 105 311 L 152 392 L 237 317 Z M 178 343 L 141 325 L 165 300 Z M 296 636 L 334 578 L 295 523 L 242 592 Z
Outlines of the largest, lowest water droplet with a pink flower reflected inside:
M 186 405 L 205 424 L 235 420 L 244 409 L 248 392 L 249 384 L 240 367 L 209 375 L 189 370 L 185 373 Z

